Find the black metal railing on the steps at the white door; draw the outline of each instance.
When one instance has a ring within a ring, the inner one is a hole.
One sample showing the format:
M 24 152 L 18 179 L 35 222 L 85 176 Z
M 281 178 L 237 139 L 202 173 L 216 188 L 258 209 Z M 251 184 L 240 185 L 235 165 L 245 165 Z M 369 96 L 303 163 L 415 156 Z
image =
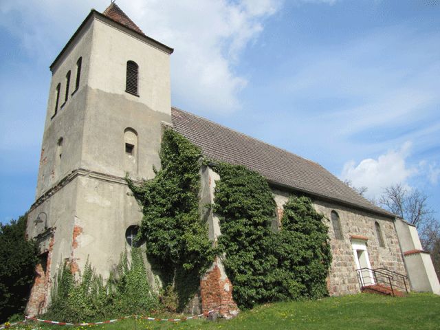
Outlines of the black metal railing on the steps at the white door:
M 369 285 L 382 284 L 391 289 L 391 294 L 395 296 L 395 289 L 405 290 L 408 293 L 408 278 L 403 274 L 387 270 L 386 268 L 360 268 L 356 270 L 358 273 L 359 283 L 362 288 Z

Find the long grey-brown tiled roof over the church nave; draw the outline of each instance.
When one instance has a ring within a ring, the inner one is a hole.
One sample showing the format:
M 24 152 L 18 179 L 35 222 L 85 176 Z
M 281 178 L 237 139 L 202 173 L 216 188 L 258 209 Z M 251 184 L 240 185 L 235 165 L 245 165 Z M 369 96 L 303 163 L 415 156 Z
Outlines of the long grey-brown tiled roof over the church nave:
M 171 114 L 175 131 L 199 146 L 208 158 L 244 165 L 272 184 L 393 217 L 315 162 L 192 113 L 172 108 Z

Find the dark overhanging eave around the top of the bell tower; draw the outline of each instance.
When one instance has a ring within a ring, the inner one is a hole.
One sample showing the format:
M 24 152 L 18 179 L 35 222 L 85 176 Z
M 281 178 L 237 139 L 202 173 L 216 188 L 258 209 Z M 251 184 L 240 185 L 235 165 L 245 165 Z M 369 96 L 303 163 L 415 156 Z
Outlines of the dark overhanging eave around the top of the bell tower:
M 78 34 L 80 34 L 80 32 L 83 30 L 83 28 L 85 28 L 85 25 L 87 25 L 87 23 L 89 23 L 89 21 L 91 19 L 94 19 L 95 17 L 98 17 L 99 19 L 102 19 L 103 21 L 108 21 L 108 22 L 111 22 L 111 23 L 117 25 L 122 30 L 126 30 L 127 32 L 130 32 L 130 34 L 135 36 L 137 39 L 145 41 L 146 43 L 153 45 L 153 46 L 157 47 L 159 50 L 162 50 L 168 54 L 173 54 L 173 52 L 174 52 L 173 48 L 168 47 L 167 45 L 164 45 L 163 43 L 159 43 L 159 41 L 156 41 L 155 39 L 150 38 L 149 36 L 146 36 L 144 34 L 141 34 L 137 31 L 131 29 L 131 28 L 128 28 L 126 25 L 123 25 L 123 24 L 119 23 L 118 21 L 115 21 L 115 20 L 105 16 L 104 14 L 98 12 L 97 10 L 92 9 L 92 10 L 90 10 L 87 17 L 84 19 L 83 23 L 81 23 L 81 25 L 78 27 L 78 29 L 76 29 L 76 31 L 74 32 L 72 37 L 69 39 L 69 41 L 67 41 L 66 45 L 63 47 L 63 50 L 61 50 L 61 52 L 58 54 L 58 56 L 56 56 L 55 60 L 50 65 L 49 68 L 51 71 L 54 68 L 54 66 L 56 65 L 56 63 L 58 63 L 60 58 L 63 56 L 63 54 L 67 51 L 69 46 L 76 39 L 76 36 L 78 36 Z

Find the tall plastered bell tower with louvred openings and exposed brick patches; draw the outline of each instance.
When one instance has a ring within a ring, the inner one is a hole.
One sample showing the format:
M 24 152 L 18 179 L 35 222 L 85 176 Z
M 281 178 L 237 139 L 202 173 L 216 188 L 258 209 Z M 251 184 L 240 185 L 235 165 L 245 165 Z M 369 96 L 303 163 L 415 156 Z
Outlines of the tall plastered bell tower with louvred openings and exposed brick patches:
M 50 65 L 27 228 L 41 252 L 30 315 L 45 311 L 63 263 L 80 272 L 88 259 L 106 277 L 130 248 L 126 230 L 142 212 L 124 176 L 152 178 L 160 166 L 162 124 L 171 122 L 172 52 L 111 3 L 102 13 L 91 10 Z

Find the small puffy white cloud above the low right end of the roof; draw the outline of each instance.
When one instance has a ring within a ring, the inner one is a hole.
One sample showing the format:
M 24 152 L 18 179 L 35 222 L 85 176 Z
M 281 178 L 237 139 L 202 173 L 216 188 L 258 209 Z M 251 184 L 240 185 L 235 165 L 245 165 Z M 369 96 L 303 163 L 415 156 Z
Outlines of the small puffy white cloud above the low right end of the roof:
M 408 179 L 418 173 L 415 166 L 408 166 L 411 143 L 405 142 L 401 148 L 380 155 L 377 159 L 364 159 L 358 165 L 354 161 L 344 164 L 341 179 L 350 180 L 353 186 L 368 188 L 366 196 L 380 195 L 383 188 L 393 184 L 408 185 Z

